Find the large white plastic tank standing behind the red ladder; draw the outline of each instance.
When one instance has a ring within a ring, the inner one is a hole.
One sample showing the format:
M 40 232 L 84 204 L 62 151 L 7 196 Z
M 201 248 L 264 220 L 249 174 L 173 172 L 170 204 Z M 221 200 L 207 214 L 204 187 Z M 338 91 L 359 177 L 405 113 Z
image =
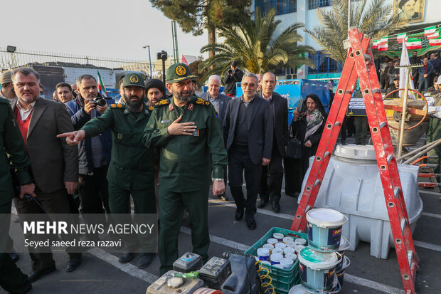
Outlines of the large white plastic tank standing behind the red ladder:
M 313 160 L 314 157 L 309 159 L 302 191 Z M 423 212 L 418 191 L 418 166 L 398 164 L 398 172 L 413 233 Z M 335 209 L 348 217 L 343 236 L 351 243 L 349 250 L 354 251 L 359 241 L 366 241 L 371 243 L 371 256 L 388 258 L 394 243 L 373 146 L 337 145 L 314 207 Z

